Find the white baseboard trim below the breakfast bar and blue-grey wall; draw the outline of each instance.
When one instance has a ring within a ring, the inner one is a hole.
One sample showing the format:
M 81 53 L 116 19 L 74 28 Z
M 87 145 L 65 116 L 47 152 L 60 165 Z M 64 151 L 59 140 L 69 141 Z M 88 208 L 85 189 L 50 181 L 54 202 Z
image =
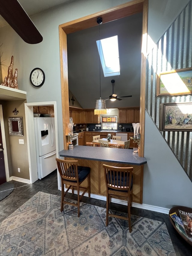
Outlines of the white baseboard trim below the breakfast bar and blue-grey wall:
M 60 190 L 61 190 L 61 188 L 60 188 Z M 66 191 L 67 189 L 65 188 L 64 190 Z M 72 193 L 71 189 L 68 192 Z M 76 190 L 74 191 L 74 194 L 77 194 Z M 82 194 L 82 192 L 80 192 L 80 194 Z M 88 197 L 88 193 L 85 193 L 84 196 Z M 97 194 L 91 194 L 91 198 L 106 201 L 105 196 L 101 196 L 101 195 L 97 195 Z M 111 198 L 111 202 L 119 203 L 122 205 L 127 205 L 127 203 L 125 203 L 125 200 L 120 200 L 120 199 L 116 199 L 116 198 Z M 169 210 L 170 210 L 170 209 L 163 208 L 163 207 L 158 207 L 158 206 L 153 206 L 153 205 L 148 205 L 148 204 L 140 204 L 140 203 L 132 203 L 132 206 L 136 207 L 136 208 L 149 210 L 149 211 L 153 211 L 153 212 L 160 212 L 160 213 L 164 213 L 164 214 L 169 214 Z

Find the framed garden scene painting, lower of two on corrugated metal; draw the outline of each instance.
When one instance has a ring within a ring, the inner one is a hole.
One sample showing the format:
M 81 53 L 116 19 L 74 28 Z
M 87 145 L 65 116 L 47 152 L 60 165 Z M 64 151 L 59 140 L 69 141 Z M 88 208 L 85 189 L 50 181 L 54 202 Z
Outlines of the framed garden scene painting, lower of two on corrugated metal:
M 192 131 L 192 102 L 163 103 L 161 131 Z

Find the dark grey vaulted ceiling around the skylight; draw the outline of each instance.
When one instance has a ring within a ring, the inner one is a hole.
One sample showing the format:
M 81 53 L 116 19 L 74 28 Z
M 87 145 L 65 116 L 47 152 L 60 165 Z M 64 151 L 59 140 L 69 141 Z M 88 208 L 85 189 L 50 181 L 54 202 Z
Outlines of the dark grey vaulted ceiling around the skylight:
M 120 75 L 104 77 L 101 67 L 101 98 L 114 93 L 132 95 L 122 101 L 106 101 L 107 108 L 140 105 L 142 13 L 100 25 L 100 38 L 118 35 Z M 100 64 L 96 45 L 99 26 L 67 35 L 69 90 L 82 108 L 95 108 L 100 98 Z

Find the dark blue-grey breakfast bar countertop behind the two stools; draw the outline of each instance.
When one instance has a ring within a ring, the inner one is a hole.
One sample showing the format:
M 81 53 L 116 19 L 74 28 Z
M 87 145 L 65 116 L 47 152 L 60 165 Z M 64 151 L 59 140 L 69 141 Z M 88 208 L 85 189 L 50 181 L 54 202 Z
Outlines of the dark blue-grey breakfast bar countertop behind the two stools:
M 145 157 L 133 155 L 133 149 L 74 146 L 73 150 L 61 150 L 59 155 L 62 157 L 106 161 L 121 164 L 142 165 L 147 163 Z

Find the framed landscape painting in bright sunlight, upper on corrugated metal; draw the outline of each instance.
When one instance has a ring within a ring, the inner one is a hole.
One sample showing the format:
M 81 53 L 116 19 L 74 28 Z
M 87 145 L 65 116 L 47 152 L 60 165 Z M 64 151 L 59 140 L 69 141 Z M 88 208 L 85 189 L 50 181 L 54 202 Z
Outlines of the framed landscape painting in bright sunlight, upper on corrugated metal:
M 156 74 L 157 96 L 192 93 L 192 68 Z

